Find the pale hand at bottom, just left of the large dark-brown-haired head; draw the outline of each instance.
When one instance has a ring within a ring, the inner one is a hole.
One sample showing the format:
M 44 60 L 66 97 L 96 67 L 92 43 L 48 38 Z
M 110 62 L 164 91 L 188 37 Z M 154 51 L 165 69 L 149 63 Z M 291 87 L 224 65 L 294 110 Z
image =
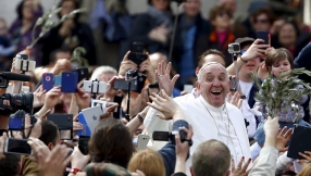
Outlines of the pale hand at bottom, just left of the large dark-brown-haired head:
M 77 147 L 74 148 L 74 151 L 72 153 L 72 168 L 78 168 L 83 169 L 87 163 L 89 162 L 90 156 L 89 155 L 84 155 Z

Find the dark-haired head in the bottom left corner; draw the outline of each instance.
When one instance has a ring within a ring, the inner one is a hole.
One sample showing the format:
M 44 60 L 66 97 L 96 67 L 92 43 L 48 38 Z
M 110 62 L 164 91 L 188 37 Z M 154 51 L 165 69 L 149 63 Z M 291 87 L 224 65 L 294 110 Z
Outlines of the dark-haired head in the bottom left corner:
M 20 160 L 20 155 L 5 153 L 5 159 L 0 160 L 0 176 L 18 175 Z

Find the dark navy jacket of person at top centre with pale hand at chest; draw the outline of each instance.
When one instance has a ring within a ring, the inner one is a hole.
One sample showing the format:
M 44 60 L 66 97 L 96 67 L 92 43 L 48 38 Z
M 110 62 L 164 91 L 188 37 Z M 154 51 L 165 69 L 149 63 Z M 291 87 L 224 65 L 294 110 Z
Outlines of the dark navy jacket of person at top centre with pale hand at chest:
M 154 23 L 153 17 L 149 15 L 148 13 L 141 13 L 141 14 L 135 15 L 132 22 L 128 45 L 133 43 L 134 41 L 140 41 L 140 42 L 144 42 L 149 54 L 152 54 L 154 52 L 161 52 L 161 53 L 167 54 L 169 46 L 170 46 L 169 40 L 165 45 L 163 45 L 161 42 L 151 40 L 148 37 L 149 33 L 156 27 L 159 27 L 159 26 Z

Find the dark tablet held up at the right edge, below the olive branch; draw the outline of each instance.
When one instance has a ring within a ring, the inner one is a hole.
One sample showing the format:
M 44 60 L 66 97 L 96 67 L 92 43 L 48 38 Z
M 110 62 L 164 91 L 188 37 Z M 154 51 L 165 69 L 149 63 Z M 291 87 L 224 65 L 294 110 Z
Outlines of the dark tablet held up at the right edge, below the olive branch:
M 311 128 L 304 126 L 296 126 L 291 136 L 287 156 L 291 159 L 303 159 L 298 153 L 311 151 Z

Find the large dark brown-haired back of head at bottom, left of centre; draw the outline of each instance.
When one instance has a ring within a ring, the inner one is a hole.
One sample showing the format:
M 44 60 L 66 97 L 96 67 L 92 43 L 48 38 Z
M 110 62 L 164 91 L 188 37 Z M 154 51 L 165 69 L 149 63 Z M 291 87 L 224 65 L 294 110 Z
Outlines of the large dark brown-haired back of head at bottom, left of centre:
M 105 162 L 127 167 L 133 154 L 128 128 L 119 120 L 104 118 L 96 126 L 89 140 L 92 162 Z

